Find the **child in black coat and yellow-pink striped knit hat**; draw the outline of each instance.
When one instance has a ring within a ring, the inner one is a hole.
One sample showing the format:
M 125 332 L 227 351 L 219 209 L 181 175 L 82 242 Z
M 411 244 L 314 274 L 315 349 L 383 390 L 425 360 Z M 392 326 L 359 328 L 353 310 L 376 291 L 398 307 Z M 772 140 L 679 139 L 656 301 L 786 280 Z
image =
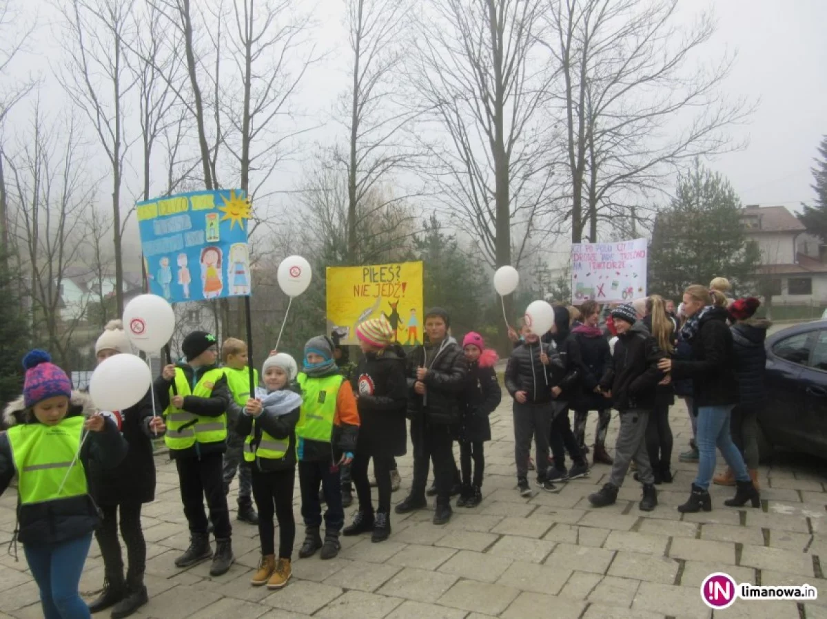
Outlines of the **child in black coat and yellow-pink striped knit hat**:
M 405 354 L 402 346 L 394 343 L 394 336 L 395 331 L 385 317 L 362 322 L 356 327 L 356 337 L 365 354 L 353 375 L 360 426 L 351 478 L 359 498 L 359 511 L 353 524 L 342 534 L 356 536 L 372 531 L 372 541 L 384 541 L 390 536 L 390 471 L 394 457 L 404 455 L 408 443 Z M 376 512 L 370 501 L 367 476 L 371 458 L 379 489 Z

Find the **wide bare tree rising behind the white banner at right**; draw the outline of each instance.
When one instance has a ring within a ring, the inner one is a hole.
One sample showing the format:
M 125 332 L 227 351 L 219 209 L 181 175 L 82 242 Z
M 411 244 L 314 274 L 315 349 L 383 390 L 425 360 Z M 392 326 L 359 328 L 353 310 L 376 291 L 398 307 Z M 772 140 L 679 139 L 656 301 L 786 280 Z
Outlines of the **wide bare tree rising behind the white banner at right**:
M 562 220 L 570 220 L 572 242 L 596 241 L 601 221 L 648 219 L 646 204 L 669 186 L 667 175 L 740 146 L 726 130 L 751 107 L 721 93 L 734 59 L 691 66 L 715 21 L 702 14 L 681 26 L 676 7 L 676 0 L 546 2 L 541 40 L 562 80 L 549 93 L 565 126 Z

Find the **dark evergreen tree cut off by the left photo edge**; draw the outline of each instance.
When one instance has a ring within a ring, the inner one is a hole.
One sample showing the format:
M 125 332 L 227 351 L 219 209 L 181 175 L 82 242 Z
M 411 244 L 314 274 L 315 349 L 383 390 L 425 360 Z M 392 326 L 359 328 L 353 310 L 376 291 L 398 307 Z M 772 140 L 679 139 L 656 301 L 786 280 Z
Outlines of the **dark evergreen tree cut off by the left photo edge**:
M 22 393 L 22 359 L 31 342 L 31 328 L 22 307 L 20 284 L 7 251 L 0 248 L 0 402 L 10 402 Z

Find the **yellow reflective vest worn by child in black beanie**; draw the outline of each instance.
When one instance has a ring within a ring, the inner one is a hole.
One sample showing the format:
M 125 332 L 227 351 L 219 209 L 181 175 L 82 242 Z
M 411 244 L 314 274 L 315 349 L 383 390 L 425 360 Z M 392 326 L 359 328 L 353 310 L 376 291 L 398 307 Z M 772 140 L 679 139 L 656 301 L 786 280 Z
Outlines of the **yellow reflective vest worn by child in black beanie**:
M 175 368 L 175 388 L 179 396 L 195 396 L 196 398 L 211 398 L 213 387 L 224 376 L 224 368 L 211 369 L 205 372 L 195 388 L 190 388 L 184 370 Z M 174 396 L 170 386 L 170 406 L 164 411 L 166 417 L 166 435 L 164 442 L 170 450 L 186 450 L 198 443 L 218 443 L 227 440 L 227 413 L 220 417 L 204 417 L 192 412 L 182 411 L 172 405 Z

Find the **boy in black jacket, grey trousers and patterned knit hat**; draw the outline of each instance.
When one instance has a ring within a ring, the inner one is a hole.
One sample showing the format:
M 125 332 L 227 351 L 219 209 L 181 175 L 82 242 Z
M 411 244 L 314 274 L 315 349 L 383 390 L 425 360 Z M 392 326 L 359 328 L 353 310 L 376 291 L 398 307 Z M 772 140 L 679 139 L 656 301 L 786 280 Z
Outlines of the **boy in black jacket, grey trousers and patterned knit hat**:
M 634 460 L 643 483 L 640 509 L 651 512 L 657 505 L 657 493 L 646 450 L 646 427 L 655 407 L 657 383 L 663 378 L 657 362 L 666 355 L 657 347 L 657 340 L 646 327 L 638 322 L 638 314 L 631 304 L 616 307 L 612 318 L 618 341 L 614 345 L 612 365 L 600 381 L 600 389 L 620 412 L 620 431 L 614 446 L 609 483 L 600 492 L 591 494 L 589 502 L 595 507 L 614 504 L 629 463 Z

